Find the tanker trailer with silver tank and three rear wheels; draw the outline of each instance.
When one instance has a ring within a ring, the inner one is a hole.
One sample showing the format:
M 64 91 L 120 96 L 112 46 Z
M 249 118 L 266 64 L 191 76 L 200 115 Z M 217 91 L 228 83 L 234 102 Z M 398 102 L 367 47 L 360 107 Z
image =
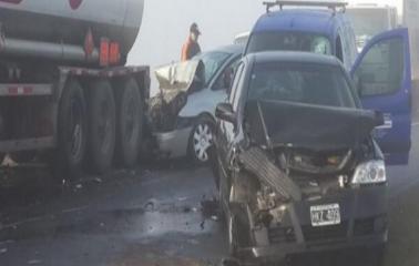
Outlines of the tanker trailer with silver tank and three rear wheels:
M 135 164 L 149 66 L 124 66 L 144 0 L 0 0 L 0 161 L 73 176 Z

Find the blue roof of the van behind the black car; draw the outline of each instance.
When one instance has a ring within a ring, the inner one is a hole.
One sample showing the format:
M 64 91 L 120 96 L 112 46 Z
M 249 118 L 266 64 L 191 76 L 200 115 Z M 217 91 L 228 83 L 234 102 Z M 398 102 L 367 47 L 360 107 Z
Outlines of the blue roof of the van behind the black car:
M 341 12 L 328 9 L 284 9 L 262 16 L 253 32 L 293 30 L 334 35 L 339 19 Z

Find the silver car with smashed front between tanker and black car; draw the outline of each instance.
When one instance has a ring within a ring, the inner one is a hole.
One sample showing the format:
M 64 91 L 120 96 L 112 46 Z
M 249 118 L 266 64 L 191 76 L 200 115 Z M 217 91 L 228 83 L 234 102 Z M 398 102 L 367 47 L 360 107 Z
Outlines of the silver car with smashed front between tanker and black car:
M 151 100 L 150 110 L 157 149 L 165 158 L 208 162 L 215 108 L 227 98 L 243 49 L 223 47 L 155 70 L 160 93 Z

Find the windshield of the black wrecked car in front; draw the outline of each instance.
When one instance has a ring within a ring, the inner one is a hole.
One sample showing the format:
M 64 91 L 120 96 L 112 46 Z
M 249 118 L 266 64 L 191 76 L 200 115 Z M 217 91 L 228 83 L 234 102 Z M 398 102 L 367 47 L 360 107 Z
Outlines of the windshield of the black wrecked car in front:
M 343 71 L 320 64 L 256 64 L 251 78 L 248 100 L 356 106 Z

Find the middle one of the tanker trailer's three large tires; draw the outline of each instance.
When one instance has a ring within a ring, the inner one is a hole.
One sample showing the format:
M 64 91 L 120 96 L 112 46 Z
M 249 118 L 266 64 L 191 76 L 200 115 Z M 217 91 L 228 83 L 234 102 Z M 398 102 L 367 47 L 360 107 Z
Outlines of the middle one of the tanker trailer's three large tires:
M 103 174 L 111 168 L 115 150 L 115 100 L 104 80 L 92 82 L 89 96 L 89 163 L 94 173 Z

